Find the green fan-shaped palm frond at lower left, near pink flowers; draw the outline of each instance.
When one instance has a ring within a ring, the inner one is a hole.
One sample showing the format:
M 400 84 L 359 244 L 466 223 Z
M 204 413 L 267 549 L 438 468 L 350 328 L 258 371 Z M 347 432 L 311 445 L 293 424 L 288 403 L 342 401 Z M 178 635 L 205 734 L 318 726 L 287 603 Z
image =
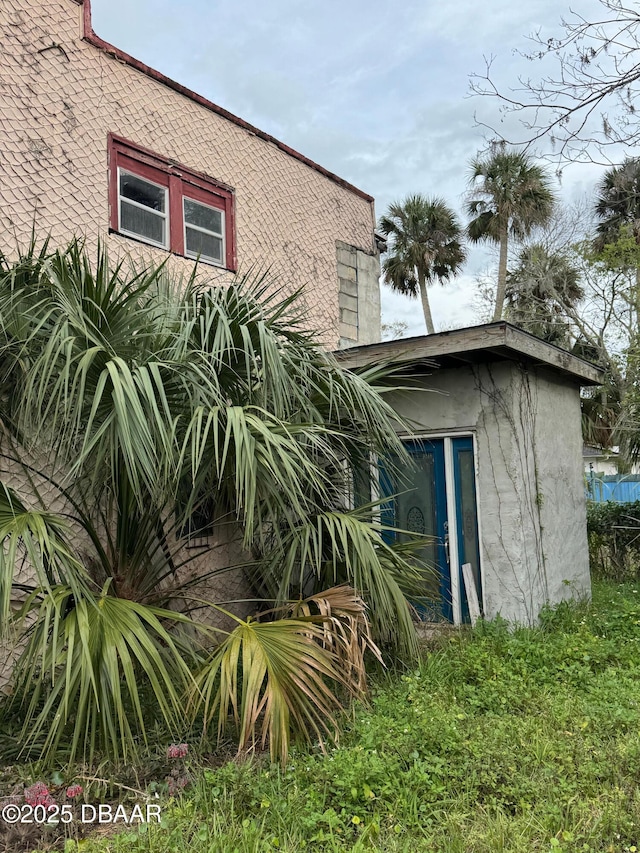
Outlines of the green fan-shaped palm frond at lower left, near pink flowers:
M 43 758 L 67 740 L 70 760 L 91 760 L 100 748 L 126 758 L 146 740 L 142 683 L 151 690 L 155 717 L 178 735 L 182 696 L 192 684 L 188 657 L 167 624 L 184 615 L 101 595 L 74 594 L 58 585 L 32 593 L 23 615 L 33 621 L 18 665 L 16 700 L 24 712 L 26 749 L 46 733 Z

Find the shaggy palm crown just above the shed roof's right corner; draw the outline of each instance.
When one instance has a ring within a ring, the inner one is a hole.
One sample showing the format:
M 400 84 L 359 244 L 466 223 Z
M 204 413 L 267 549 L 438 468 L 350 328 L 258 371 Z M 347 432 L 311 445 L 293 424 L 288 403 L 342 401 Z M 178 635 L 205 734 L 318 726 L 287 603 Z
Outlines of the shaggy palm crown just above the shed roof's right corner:
M 584 297 L 580 272 L 571 259 L 540 243 L 525 246 L 507 275 L 506 314 L 542 340 L 570 346 L 567 311 Z

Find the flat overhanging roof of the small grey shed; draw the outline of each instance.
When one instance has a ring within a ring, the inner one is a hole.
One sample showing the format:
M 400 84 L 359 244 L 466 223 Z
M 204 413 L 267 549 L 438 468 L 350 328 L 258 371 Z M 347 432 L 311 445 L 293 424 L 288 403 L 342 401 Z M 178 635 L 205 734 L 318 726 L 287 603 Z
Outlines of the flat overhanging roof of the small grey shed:
M 595 364 L 541 341 L 504 320 L 435 335 L 349 347 L 334 355 L 345 367 L 364 367 L 377 361 L 422 364 L 426 368 L 517 361 L 549 368 L 579 385 L 601 385 L 604 375 Z

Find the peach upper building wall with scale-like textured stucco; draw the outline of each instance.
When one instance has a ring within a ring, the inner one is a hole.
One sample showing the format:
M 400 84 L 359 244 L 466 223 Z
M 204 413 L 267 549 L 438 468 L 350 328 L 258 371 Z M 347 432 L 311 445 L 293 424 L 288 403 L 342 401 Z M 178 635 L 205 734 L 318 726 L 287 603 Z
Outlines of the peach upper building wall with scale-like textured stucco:
M 107 235 L 107 134 L 115 133 L 233 187 L 240 269 L 269 267 L 286 286 L 304 286 L 310 325 L 336 347 L 336 241 L 375 256 L 373 204 L 83 41 L 81 16 L 74 0 L 0 7 L 2 250 L 16 237 L 25 244 L 34 218 L 38 235 L 50 232 L 55 243 Z M 114 255 L 166 257 L 117 235 L 107 242 Z M 368 288 L 377 287 L 374 277 Z M 379 339 L 379 317 L 373 324 L 361 343 Z

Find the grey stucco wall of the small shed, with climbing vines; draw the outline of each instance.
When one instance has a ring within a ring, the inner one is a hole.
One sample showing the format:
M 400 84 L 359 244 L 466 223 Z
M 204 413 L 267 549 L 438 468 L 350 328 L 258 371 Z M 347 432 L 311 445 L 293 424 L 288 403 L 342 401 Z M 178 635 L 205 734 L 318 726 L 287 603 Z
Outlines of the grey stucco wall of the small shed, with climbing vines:
M 434 371 L 424 387 L 393 397 L 416 432 L 476 438 L 485 615 L 533 624 L 546 602 L 588 595 L 577 386 L 495 363 Z

